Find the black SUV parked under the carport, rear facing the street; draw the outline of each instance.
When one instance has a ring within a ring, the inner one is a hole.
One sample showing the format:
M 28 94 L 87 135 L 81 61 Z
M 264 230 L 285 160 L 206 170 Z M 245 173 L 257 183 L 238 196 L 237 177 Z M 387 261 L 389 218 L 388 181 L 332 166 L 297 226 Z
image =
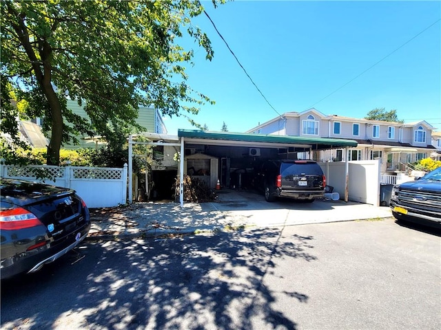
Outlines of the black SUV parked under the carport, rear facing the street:
M 312 202 L 325 193 L 322 168 L 313 160 L 267 160 L 256 168 L 255 186 L 266 201 L 289 197 Z

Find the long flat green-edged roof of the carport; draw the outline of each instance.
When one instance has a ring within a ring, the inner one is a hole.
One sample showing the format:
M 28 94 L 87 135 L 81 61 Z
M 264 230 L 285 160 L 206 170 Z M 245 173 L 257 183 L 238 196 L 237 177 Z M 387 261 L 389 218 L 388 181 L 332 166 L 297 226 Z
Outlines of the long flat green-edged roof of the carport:
M 289 135 L 263 135 L 253 133 L 231 133 L 231 132 L 207 132 L 193 129 L 178 129 L 178 137 L 185 137 L 185 140 L 192 142 L 222 142 L 225 145 L 243 144 L 265 144 L 267 146 L 308 146 L 314 150 L 329 148 L 341 148 L 345 146 L 355 147 L 357 142 L 354 140 L 334 139 L 329 137 L 300 137 Z

